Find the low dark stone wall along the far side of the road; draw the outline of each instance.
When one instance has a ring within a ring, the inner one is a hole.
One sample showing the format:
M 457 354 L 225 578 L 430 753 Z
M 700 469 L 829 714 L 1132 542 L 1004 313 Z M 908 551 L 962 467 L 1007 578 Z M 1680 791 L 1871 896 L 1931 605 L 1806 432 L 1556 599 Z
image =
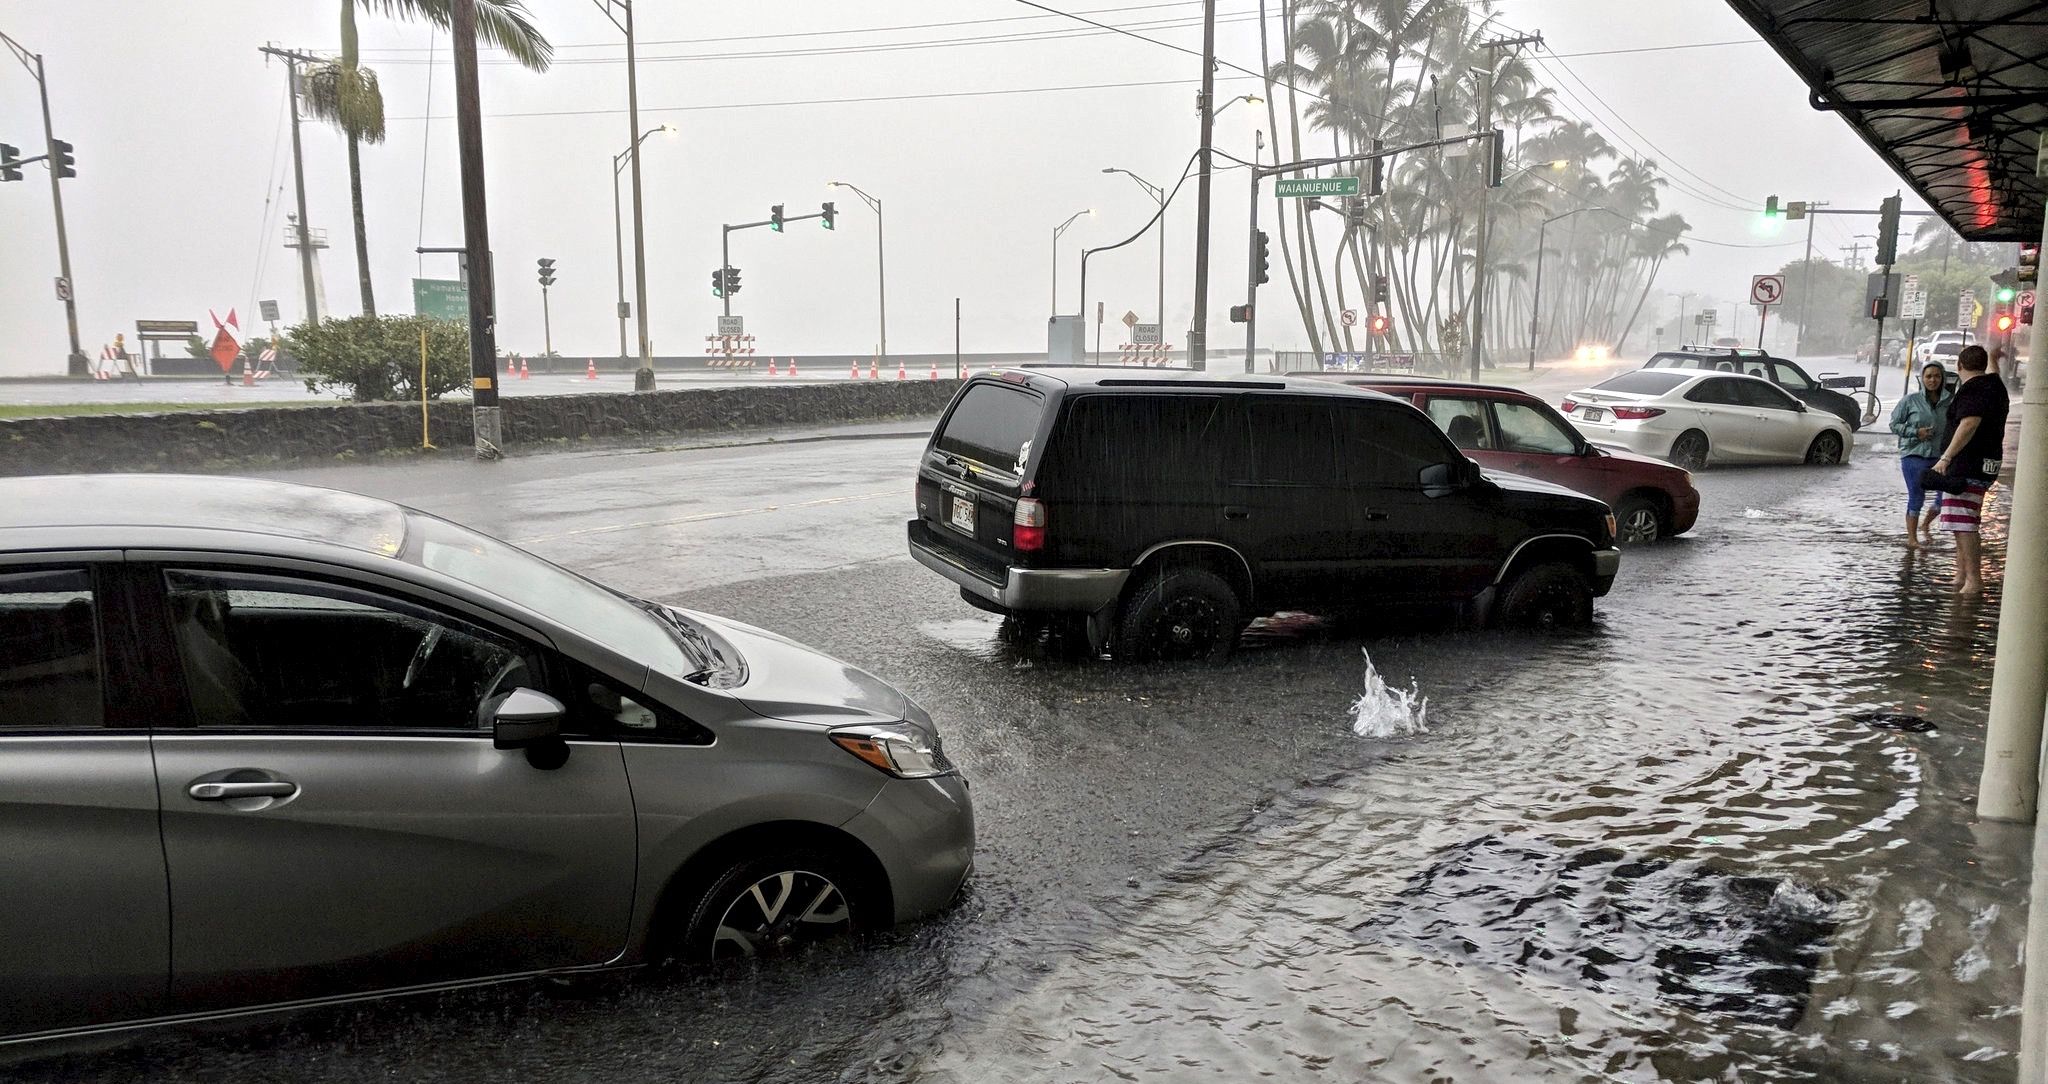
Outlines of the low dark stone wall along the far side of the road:
M 934 416 L 956 389 L 958 381 L 924 379 L 518 395 L 500 404 L 504 449 L 520 455 L 584 441 Z M 469 400 L 428 406 L 428 430 L 440 455 L 471 455 Z M 410 455 L 422 455 L 418 404 L 0 418 L 4 475 L 217 471 Z

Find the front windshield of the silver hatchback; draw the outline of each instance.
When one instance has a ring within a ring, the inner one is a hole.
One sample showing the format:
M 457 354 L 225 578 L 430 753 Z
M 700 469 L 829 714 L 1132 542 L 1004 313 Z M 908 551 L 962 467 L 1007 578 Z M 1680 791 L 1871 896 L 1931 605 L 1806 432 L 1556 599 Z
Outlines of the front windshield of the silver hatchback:
M 686 648 L 672 621 L 649 613 L 651 604 L 643 607 L 524 549 L 442 518 L 410 514 L 406 523 L 403 555 L 418 566 L 547 615 L 633 662 L 676 678 L 698 674 L 711 662 Z

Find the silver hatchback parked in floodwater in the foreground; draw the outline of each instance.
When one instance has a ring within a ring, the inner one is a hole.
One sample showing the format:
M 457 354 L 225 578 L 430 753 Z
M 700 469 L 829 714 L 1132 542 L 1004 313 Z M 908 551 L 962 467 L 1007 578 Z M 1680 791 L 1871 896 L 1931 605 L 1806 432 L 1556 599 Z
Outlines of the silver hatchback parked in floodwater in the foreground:
M 930 715 L 383 500 L 0 480 L 0 1041 L 684 959 L 946 906 Z

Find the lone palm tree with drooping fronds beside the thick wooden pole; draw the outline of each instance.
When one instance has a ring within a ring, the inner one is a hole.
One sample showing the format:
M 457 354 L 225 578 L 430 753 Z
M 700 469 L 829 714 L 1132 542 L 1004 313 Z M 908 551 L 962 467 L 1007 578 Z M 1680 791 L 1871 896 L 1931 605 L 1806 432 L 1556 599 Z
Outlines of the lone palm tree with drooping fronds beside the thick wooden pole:
M 332 121 L 348 137 L 348 205 L 356 225 L 356 281 L 362 287 L 362 314 L 377 314 L 377 295 L 371 291 L 369 236 L 362 227 L 362 143 L 383 143 L 383 92 L 377 86 L 377 72 L 362 68 L 356 47 L 356 6 L 389 14 L 395 18 L 426 18 L 449 29 L 453 20 L 451 0 L 342 0 L 342 55 L 307 68 L 305 111 L 322 121 Z M 555 47 L 541 37 L 520 0 L 477 0 L 477 37 L 504 49 L 522 66 L 545 72 Z

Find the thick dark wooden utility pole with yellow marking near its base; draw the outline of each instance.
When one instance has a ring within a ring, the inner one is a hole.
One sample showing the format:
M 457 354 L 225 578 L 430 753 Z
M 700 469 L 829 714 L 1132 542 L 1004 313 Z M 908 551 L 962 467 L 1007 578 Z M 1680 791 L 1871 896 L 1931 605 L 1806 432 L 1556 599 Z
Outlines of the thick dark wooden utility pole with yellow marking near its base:
M 498 281 L 483 209 L 483 105 L 477 100 L 477 0 L 453 0 L 455 148 L 463 166 L 463 248 L 469 260 L 469 385 L 477 459 L 498 459 Z M 303 219 L 301 219 L 303 225 Z M 645 318 L 643 318 L 645 320 Z

